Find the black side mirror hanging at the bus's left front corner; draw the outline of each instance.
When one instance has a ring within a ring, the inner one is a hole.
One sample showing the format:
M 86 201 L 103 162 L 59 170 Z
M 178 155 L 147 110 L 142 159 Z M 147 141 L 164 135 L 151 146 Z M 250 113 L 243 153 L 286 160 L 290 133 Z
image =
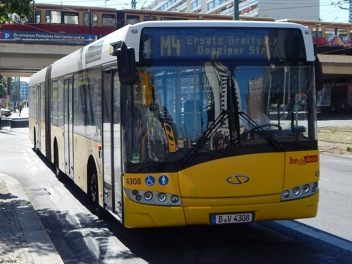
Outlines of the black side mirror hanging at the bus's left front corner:
M 116 50 L 116 56 L 120 83 L 124 85 L 136 83 L 136 56 L 134 49 L 127 48 L 125 42 L 122 42 L 120 48 Z

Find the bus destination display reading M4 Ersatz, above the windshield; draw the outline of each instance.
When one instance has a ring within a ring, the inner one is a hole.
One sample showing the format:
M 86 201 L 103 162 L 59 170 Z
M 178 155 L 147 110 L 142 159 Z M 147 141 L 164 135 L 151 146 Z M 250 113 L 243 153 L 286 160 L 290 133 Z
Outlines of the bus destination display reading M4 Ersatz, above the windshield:
M 142 58 L 237 58 L 270 61 L 305 57 L 304 50 L 297 54 L 296 50 L 290 50 L 289 46 L 278 47 L 278 38 L 280 43 L 282 40 L 288 43 L 300 41 L 298 46 L 303 43 L 301 33 L 297 29 L 213 28 L 201 33 L 193 28 L 145 28 L 142 33 Z

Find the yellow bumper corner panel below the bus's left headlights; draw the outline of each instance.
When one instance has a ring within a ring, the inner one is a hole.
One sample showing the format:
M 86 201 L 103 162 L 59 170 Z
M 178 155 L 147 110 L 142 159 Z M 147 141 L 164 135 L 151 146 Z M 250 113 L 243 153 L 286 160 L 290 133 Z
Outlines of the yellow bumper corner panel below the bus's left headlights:
M 180 206 L 146 205 L 132 201 L 124 192 L 124 225 L 126 227 L 184 226 Z

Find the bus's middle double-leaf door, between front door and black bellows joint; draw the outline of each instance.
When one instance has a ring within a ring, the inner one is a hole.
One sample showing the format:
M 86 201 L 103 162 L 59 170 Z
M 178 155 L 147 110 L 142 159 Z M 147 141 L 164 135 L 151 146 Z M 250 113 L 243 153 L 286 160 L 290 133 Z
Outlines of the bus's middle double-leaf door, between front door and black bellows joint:
M 73 115 L 72 115 L 72 75 L 64 80 L 64 141 L 65 173 L 73 179 Z

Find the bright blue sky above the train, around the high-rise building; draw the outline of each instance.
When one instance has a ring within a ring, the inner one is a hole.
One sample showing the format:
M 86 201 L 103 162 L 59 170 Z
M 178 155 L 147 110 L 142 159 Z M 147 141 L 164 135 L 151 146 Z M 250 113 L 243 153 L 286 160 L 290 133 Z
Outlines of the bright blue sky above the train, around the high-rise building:
M 99 6 L 99 7 L 112 7 L 116 9 L 131 8 L 132 0 L 85 0 L 85 1 L 69 1 L 69 0 L 38 0 L 36 3 L 50 3 L 57 5 L 79 5 L 79 6 Z M 137 8 L 146 7 L 150 5 L 153 0 L 136 0 Z M 341 4 L 338 4 L 338 3 Z M 305 2 L 307 5 L 309 0 Z M 334 4 L 335 5 L 334 5 Z M 320 0 L 320 19 L 324 21 L 334 22 L 348 22 L 348 10 L 343 10 L 339 6 L 348 8 L 349 4 L 344 0 Z

